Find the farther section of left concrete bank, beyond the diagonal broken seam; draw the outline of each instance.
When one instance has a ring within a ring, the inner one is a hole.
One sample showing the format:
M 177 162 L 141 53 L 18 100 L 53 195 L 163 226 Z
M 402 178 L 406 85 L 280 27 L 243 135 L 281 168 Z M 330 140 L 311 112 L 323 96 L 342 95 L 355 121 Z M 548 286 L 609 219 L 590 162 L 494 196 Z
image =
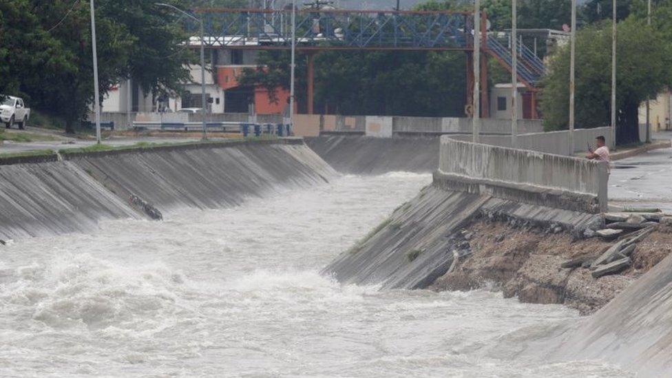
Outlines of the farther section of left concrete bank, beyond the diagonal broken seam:
M 235 206 L 282 187 L 305 187 L 335 176 L 302 140 L 111 151 L 70 159 L 120 198 L 137 196 L 162 212 Z

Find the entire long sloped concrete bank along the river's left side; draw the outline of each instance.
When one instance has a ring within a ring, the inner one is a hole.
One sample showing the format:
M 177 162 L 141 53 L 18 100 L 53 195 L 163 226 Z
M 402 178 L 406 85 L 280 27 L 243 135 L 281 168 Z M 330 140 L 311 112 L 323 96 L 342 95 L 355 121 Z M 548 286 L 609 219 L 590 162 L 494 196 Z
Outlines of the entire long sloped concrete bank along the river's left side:
M 336 174 L 301 140 L 63 157 L 0 165 L 0 240 L 90 231 L 101 220 L 149 218 L 142 205 L 168 213 L 182 207 L 229 207 Z

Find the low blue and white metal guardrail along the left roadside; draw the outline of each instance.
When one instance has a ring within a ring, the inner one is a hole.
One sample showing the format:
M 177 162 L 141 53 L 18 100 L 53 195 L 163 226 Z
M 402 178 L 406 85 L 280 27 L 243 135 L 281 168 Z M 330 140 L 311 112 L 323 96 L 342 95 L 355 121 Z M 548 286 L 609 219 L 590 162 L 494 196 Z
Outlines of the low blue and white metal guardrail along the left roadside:
M 174 132 L 198 132 L 203 128 L 200 122 L 134 122 L 135 130 L 155 130 L 155 131 L 174 131 Z M 244 137 L 254 134 L 254 136 L 274 135 L 291 136 L 291 125 L 282 123 L 248 123 L 248 122 L 209 122 L 206 123 L 208 132 L 227 132 L 232 134 L 243 134 Z

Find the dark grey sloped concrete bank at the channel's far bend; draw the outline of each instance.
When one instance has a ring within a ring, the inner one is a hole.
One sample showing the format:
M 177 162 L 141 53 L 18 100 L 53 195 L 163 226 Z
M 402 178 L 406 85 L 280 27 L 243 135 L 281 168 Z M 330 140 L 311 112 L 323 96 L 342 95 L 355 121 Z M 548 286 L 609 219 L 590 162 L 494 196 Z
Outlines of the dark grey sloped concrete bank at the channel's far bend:
M 319 136 L 306 144 L 344 174 L 430 173 L 439 167 L 439 137 Z

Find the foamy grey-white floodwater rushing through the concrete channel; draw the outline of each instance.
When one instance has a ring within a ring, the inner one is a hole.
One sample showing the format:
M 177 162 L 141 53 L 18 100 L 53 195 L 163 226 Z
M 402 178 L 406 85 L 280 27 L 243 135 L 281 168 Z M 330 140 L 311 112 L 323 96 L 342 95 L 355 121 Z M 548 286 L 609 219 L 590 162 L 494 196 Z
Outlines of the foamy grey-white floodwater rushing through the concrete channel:
M 0 375 L 623 376 L 598 361 L 494 357 L 495 346 L 518 348 L 521 328 L 578 319 L 563 306 L 319 275 L 430 180 L 344 176 L 235 209 L 2 248 Z

